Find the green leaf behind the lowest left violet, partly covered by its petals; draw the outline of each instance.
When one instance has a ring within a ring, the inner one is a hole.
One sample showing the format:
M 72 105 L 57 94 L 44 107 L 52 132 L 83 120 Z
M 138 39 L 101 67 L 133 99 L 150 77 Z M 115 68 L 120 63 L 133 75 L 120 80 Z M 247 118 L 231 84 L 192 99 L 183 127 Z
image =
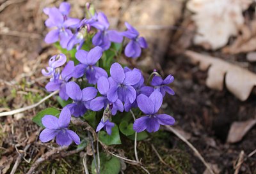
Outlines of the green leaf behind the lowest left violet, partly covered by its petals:
M 35 122 L 40 127 L 44 127 L 42 124 L 42 118 L 44 115 L 54 115 L 55 117 L 58 117 L 58 115 L 60 115 L 60 111 L 56 108 L 46 108 L 45 110 L 38 112 L 36 116 L 33 117 L 33 122 Z

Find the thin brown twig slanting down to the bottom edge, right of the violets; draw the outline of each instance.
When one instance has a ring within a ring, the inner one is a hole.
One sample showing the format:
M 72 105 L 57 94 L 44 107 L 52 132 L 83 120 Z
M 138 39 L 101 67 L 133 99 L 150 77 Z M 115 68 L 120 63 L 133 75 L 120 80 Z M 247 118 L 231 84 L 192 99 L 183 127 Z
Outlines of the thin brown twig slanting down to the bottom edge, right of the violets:
M 205 162 L 204 157 L 201 156 L 201 154 L 198 152 L 198 150 L 191 143 L 189 143 L 189 141 L 186 140 L 186 138 L 184 138 L 184 136 L 182 136 L 180 133 L 175 131 L 175 129 L 173 129 L 171 126 L 167 126 L 166 125 L 165 127 L 169 131 L 174 133 L 176 136 L 178 136 L 180 138 L 180 140 L 184 141 L 184 143 L 186 143 L 195 152 L 196 156 L 202 161 L 202 163 L 204 163 L 205 167 L 209 170 L 209 172 L 211 174 L 214 174 L 214 172 L 212 171 L 211 167 Z

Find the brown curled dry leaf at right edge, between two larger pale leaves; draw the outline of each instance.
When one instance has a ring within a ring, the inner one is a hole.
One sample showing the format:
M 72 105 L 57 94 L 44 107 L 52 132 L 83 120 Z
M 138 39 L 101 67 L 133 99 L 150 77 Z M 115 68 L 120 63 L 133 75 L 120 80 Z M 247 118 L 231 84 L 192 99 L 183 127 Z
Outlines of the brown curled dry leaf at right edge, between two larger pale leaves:
M 225 54 L 239 54 L 256 50 L 256 20 L 241 27 L 241 34 L 232 45 L 222 49 Z

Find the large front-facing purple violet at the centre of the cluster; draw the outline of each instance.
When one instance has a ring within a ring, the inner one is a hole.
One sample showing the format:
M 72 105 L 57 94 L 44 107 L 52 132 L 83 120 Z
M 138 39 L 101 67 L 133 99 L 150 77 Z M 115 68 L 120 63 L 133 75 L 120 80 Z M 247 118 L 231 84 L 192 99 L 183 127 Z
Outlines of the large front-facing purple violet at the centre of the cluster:
M 110 68 L 111 77 L 109 78 L 110 89 L 107 94 L 109 101 L 120 99 L 123 102 L 133 103 L 136 99 L 136 91 L 132 85 L 140 81 L 141 75 L 137 71 L 124 72 L 118 63 L 112 64 Z

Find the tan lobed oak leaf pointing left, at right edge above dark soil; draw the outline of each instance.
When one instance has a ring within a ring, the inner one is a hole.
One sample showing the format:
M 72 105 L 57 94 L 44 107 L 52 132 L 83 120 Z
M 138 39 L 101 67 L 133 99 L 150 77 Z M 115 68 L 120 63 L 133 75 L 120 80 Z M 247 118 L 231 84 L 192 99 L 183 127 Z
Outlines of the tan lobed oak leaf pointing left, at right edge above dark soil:
M 228 91 L 244 101 L 250 96 L 253 87 L 256 85 L 255 73 L 247 69 L 230 64 L 217 57 L 198 54 L 189 50 L 185 54 L 194 64 L 199 63 L 199 68 L 202 71 L 209 68 L 206 85 L 211 89 L 221 91 L 225 82 Z

